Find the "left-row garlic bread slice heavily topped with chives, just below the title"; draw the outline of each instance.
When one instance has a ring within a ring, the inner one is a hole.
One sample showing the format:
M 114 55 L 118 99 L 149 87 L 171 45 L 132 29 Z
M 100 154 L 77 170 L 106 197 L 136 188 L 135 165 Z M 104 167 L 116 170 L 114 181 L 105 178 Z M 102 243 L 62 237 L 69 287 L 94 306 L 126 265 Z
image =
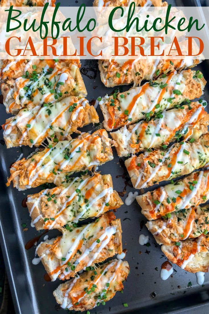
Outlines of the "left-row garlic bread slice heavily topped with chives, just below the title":
M 70 95 L 87 95 L 76 64 L 67 67 L 56 64 L 54 68 L 47 64 L 40 73 L 35 70 L 36 65 L 33 69 L 31 74 L 26 71 L 24 77 L 8 79 L 1 84 L 3 103 L 8 113 L 17 114 L 29 104 L 41 106 Z

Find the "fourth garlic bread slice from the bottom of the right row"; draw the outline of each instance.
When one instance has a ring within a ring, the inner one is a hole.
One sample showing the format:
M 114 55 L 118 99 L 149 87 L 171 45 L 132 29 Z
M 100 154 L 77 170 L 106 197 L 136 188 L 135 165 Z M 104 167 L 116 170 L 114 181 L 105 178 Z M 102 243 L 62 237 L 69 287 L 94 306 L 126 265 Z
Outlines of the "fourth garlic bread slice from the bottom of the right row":
M 165 145 L 166 146 L 166 145 Z M 169 149 L 133 155 L 125 161 L 126 168 L 135 188 L 152 186 L 164 180 L 203 168 L 209 162 L 209 133 L 196 141 L 182 141 Z

